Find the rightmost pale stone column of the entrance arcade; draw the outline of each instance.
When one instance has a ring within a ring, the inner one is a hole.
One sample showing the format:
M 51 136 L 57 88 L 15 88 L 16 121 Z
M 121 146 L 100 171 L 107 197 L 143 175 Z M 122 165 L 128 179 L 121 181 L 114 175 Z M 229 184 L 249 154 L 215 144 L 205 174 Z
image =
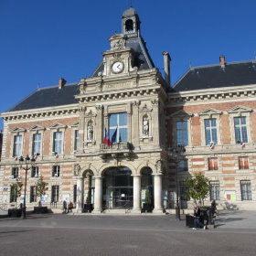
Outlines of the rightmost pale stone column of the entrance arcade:
M 153 176 L 154 176 L 154 201 L 155 201 L 155 208 L 153 212 L 162 213 L 163 212 L 162 174 L 153 174 Z

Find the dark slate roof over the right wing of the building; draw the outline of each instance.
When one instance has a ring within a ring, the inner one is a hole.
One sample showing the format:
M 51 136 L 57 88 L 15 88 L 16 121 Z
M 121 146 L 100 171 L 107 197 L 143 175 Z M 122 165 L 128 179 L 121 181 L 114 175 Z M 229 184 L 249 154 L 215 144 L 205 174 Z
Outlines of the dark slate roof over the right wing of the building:
M 175 91 L 256 84 L 256 61 L 240 61 L 220 65 L 195 67 L 187 71 L 174 85 Z

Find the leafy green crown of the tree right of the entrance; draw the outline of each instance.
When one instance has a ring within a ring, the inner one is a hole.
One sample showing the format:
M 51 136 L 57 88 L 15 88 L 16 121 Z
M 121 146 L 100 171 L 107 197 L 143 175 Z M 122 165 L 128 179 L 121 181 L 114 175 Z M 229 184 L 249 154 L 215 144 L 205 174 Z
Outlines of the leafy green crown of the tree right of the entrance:
M 208 178 L 199 173 L 194 177 L 188 177 L 185 180 L 185 184 L 187 185 L 186 197 L 191 197 L 204 203 L 204 198 L 208 196 L 209 191 Z

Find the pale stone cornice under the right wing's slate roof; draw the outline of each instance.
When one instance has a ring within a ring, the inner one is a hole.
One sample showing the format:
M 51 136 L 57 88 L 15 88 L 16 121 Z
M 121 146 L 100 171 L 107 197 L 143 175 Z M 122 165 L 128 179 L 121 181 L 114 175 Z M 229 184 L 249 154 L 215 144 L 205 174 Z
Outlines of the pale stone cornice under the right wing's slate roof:
M 238 100 L 256 96 L 256 85 L 222 87 L 195 91 L 168 93 L 168 105 L 179 105 L 201 101 Z

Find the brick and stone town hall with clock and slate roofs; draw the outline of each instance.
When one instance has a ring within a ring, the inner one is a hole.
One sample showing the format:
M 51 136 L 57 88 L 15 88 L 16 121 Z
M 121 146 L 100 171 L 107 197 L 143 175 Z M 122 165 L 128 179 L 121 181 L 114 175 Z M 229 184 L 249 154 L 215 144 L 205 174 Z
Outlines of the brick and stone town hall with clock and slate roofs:
M 20 155 L 36 155 L 27 172 L 27 207 L 37 205 L 39 176 L 48 183 L 44 205 L 86 203 L 94 213 L 171 211 L 191 207 L 184 180 L 201 173 L 219 208 L 256 209 L 256 62 L 193 67 L 170 85 L 155 67 L 131 7 L 122 33 L 91 77 L 33 92 L 3 112 L 0 203 L 13 205 L 11 184 L 26 171 Z M 97 49 L 96 49 L 97 50 Z M 24 191 L 23 191 L 24 194 Z M 22 196 L 21 196 L 22 197 Z M 176 200 L 177 199 L 177 200 Z

